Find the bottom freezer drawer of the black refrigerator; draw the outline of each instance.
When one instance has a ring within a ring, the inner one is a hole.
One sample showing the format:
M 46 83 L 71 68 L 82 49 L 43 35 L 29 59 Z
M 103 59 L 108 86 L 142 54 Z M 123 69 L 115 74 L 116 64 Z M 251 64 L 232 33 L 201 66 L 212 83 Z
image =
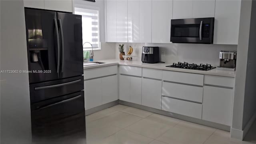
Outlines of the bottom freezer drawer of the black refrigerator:
M 85 139 L 84 91 L 32 104 L 31 124 L 34 142 Z

